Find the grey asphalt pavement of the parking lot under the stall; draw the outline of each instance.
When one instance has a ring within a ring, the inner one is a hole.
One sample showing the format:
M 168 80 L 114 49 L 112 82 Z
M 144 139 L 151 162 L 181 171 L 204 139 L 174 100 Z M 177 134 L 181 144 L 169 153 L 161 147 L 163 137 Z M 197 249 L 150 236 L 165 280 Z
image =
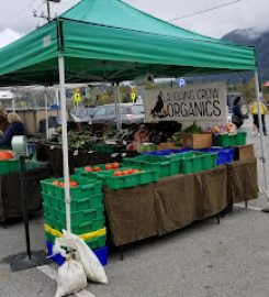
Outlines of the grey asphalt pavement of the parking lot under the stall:
M 248 132 L 248 142 L 255 143 L 256 156 L 260 157 L 259 139 L 251 134 L 250 120 L 243 130 Z M 269 136 L 265 136 L 265 146 L 268 145 Z M 262 188 L 261 165 L 259 162 Z M 260 194 L 249 202 L 249 209 L 236 206 L 220 224 L 212 218 L 161 238 L 132 244 L 124 250 L 123 261 L 117 250 L 110 251 L 105 266 L 109 285 L 89 284 L 80 296 L 268 297 L 269 213 L 259 211 L 266 204 L 266 195 Z M 31 219 L 30 231 L 32 249 L 44 250 L 41 213 Z M 55 264 L 11 272 L 4 258 L 23 251 L 23 223 L 0 227 L 0 296 L 55 296 Z

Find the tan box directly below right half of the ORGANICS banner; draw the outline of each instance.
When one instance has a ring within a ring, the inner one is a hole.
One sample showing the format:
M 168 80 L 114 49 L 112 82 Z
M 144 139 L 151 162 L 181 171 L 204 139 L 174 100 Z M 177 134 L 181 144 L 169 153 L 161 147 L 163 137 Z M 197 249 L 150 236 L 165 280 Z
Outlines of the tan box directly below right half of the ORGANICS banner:
M 182 134 L 182 147 L 208 148 L 212 146 L 212 134 Z

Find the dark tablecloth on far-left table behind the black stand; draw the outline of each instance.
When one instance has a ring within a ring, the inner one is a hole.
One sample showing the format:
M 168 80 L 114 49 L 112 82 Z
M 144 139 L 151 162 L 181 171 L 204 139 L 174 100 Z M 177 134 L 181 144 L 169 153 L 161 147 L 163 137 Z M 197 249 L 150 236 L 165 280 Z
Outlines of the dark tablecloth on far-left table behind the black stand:
M 38 168 L 26 173 L 25 197 L 29 213 L 41 209 L 40 180 L 48 177 L 48 168 Z M 0 175 L 0 221 L 20 217 L 22 217 L 20 174 Z

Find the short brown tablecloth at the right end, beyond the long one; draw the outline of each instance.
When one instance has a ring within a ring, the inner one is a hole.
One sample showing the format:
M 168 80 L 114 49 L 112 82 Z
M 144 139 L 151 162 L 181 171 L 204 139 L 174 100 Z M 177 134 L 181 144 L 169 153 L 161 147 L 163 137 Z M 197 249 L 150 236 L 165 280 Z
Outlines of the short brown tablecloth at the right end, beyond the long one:
M 257 160 L 237 161 L 227 165 L 228 200 L 237 204 L 255 199 L 259 195 Z

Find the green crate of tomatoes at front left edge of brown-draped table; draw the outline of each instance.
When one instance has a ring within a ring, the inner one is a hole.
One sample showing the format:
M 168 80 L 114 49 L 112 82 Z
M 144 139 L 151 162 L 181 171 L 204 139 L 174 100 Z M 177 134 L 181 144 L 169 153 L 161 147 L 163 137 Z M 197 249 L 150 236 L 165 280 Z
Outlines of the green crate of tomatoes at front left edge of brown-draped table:
M 120 167 L 114 170 L 90 172 L 88 176 L 96 176 L 96 178 L 102 180 L 104 187 L 113 190 L 146 185 L 159 179 L 156 169 L 144 169 L 135 166 Z

